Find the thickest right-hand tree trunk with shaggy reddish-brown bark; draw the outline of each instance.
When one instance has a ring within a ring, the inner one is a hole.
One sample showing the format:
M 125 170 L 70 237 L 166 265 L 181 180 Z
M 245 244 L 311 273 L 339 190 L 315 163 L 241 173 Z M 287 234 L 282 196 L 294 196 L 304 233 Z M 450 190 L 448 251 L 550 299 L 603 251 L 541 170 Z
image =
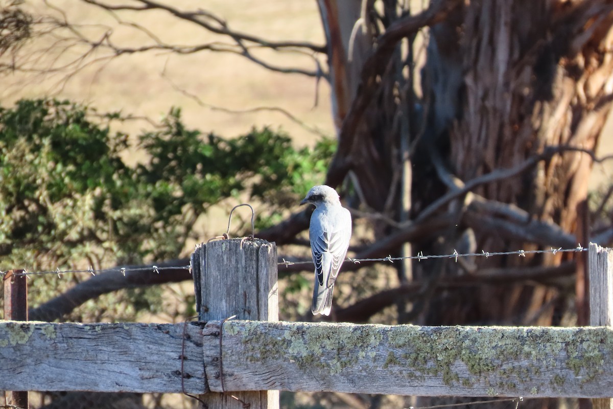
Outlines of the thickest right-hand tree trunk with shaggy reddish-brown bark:
M 595 150 L 613 91 L 612 10 L 605 1 L 472 1 L 432 29 L 425 70 L 430 128 L 439 149 L 449 145 L 453 174 L 466 182 L 517 167 L 545 147 Z M 577 210 L 587 199 L 592 163 L 586 153 L 563 151 L 474 193 L 581 237 Z M 501 236 L 479 214 L 465 213 L 463 221 L 479 249 L 538 248 Z M 564 257 L 481 258 L 478 267 L 554 265 Z M 557 324 L 558 296 L 545 286 L 482 288 L 479 297 L 447 299 L 426 321 Z

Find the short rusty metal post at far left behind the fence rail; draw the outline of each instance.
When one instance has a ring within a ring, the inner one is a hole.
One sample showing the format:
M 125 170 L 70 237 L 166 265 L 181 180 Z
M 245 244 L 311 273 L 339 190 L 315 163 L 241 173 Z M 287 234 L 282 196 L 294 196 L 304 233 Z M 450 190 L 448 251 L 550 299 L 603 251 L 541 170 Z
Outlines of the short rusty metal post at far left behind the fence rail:
M 4 319 L 28 321 L 28 278 L 23 270 L 9 270 L 4 275 Z M 28 408 L 28 391 L 6 391 L 6 405 Z

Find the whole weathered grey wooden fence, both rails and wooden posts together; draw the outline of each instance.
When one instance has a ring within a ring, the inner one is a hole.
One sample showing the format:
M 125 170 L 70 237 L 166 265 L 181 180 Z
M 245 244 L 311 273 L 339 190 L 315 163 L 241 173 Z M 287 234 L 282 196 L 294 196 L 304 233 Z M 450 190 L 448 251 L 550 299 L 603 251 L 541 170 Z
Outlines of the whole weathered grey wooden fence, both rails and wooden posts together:
M 231 393 L 252 408 L 274 407 L 271 390 L 609 398 L 611 261 L 610 250 L 590 245 L 592 323 L 600 327 L 289 323 L 274 321 L 274 247 L 213 242 L 192 256 L 202 321 L 0 321 L 0 389 L 185 391 L 217 396 L 211 407 L 236 407 Z M 249 277 L 237 278 L 241 271 Z M 223 319 L 230 312 L 241 319 Z

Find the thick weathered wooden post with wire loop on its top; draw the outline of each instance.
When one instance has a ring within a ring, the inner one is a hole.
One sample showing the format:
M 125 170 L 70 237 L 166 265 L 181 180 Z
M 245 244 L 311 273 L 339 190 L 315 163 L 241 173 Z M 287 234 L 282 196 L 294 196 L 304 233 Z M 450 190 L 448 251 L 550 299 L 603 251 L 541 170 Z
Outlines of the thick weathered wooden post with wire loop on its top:
M 196 307 L 200 321 L 237 319 L 278 321 L 277 258 L 275 243 L 265 240 L 216 240 L 196 247 L 191 257 Z M 223 326 L 221 326 L 223 331 Z M 216 342 L 221 335 L 213 333 Z M 221 344 L 219 345 L 221 351 Z M 223 357 L 221 371 L 204 364 L 209 383 L 221 383 L 223 388 Z M 219 359 L 219 357 L 208 357 Z M 212 368 L 212 369 L 211 369 Z M 215 373 L 214 373 L 215 372 Z M 207 384 L 208 389 L 208 384 Z M 250 409 L 278 408 L 278 391 L 216 393 L 208 392 L 200 399 L 208 408 Z

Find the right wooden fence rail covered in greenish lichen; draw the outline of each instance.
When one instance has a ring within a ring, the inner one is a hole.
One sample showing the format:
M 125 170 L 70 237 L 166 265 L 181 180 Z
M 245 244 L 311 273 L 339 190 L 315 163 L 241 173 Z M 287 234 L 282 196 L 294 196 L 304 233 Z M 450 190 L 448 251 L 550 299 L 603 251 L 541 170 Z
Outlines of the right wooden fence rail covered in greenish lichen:
M 419 327 L 210 321 L 223 334 L 226 391 L 280 389 L 416 396 L 605 397 L 605 327 Z M 206 343 L 206 341 L 205 341 Z M 205 357 L 205 359 L 207 359 Z M 211 390 L 219 383 L 210 383 Z

